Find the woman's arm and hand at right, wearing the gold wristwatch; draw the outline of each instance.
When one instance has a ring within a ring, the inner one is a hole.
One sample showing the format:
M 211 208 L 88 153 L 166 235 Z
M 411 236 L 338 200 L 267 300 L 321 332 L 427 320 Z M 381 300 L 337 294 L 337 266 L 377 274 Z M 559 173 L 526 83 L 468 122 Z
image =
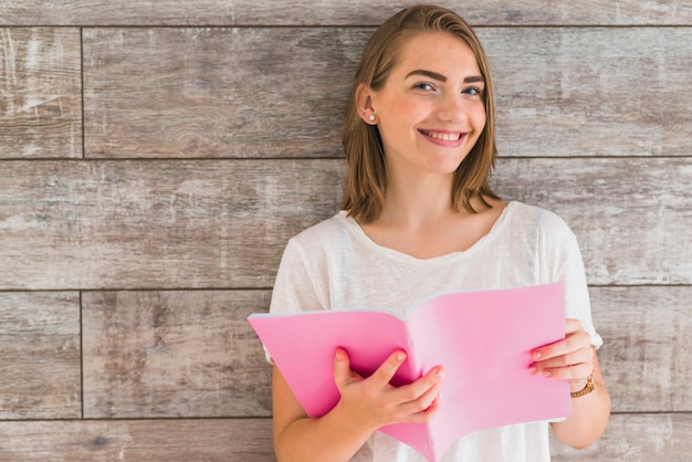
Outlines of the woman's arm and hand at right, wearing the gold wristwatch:
M 576 449 L 587 448 L 598 440 L 610 417 L 610 396 L 590 338 L 579 321 L 567 319 L 564 340 L 533 351 L 533 374 L 568 379 L 570 385 L 584 384 L 584 379 L 594 374 L 594 391 L 572 398 L 573 414 L 563 422 L 551 424 L 560 441 Z

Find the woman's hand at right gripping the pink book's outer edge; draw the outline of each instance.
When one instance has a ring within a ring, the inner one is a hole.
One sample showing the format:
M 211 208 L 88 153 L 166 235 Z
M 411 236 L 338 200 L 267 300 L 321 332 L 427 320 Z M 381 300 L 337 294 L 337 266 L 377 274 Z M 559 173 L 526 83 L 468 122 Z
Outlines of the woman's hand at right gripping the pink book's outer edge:
M 531 355 L 534 360 L 528 369 L 531 374 L 567 379 L 573 388 L 586 385 L 587 377 L 594 371 L 591 336 L 584 330 L 579 319 L 566 319 L 565 338 L 538 347 Z

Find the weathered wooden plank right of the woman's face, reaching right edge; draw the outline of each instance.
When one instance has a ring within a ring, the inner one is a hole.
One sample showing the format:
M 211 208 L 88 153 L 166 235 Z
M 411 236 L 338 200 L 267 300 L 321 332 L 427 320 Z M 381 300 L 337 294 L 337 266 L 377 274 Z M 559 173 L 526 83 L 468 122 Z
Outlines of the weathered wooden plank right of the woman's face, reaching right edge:
M 690 155 L 691 28 L 479 35 L 495 77 L 503 156 Z

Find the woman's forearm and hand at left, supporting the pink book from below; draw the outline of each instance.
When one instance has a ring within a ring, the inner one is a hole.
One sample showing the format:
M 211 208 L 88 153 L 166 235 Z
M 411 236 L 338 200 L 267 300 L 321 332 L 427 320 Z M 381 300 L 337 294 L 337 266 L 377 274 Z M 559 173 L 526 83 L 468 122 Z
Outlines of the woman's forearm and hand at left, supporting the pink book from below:
M 348 461 L 380 427 L 428 421 L 438 409 L 443 371 L 437 367 L 410 385 L 389 385 L 405 360 L 402 351 L 395 351 L 370 377 L 363 378 L 350 370 L 348 355 L 337 350 L 334 379 L 340 399 L 321 418 L 307 417 L 274 367 L 272 400 L 279 461 Z

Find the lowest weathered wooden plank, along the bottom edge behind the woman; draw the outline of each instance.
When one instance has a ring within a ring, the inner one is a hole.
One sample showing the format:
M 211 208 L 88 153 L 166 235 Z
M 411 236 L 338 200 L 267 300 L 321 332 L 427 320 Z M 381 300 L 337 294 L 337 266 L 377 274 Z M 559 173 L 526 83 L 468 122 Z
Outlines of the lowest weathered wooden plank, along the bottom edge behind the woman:
M 690 413 L 614 414 L 586 450 L 551 435 L 552 460 L 686 462 L 691 432 Z M 8 461 L 275 461 L 270 419 L 0 422 L 0 437 Z

